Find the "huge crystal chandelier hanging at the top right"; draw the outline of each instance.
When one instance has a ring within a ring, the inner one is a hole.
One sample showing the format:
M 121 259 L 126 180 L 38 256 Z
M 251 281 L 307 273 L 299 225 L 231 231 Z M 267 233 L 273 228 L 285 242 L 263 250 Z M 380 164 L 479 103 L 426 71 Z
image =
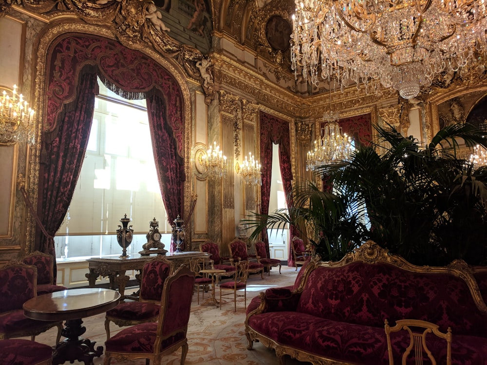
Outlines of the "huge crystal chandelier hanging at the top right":
M 291 61 L 318 85 L 328 75 L 367 92 L 379 80 L 406 99 L 439 73 L 484 71 L 487 0 L 295 0 Z

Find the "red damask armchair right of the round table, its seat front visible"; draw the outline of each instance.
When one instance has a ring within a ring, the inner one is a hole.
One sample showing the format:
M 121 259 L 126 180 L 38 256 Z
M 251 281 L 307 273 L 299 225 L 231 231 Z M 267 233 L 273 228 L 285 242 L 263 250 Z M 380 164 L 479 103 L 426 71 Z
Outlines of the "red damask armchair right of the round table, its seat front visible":
M 164 256 L 156 256 L 145 263 L 141 274 L 139 300 L 120 303 L 107 311 L 107 340 L 110 338 L 110 322 L 124 327 L 157 320 L 165 281 L 173 271 L 173 263 Z

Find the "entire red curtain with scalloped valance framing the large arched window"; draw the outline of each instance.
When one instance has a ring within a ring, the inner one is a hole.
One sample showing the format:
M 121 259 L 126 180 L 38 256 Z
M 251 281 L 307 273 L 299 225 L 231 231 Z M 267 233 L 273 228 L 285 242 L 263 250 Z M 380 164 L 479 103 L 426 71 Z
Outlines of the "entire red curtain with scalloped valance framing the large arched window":
M 80 86 L 88 77 L 86 72 L 82 72 L 87 67 L 92 71 L 89 73 L 90 80 L 93 82 L 94 77 L 96 88 L 98 70 L 104 84 L 117 94 L 127 99 L 150 99 L 151 138 L 169 222 L 172 223 L 177 214 L 183 216 L 184 100 L 174 77 L 147 55 L 95 35 L 68 34 L 59 37 L 51 45 L 47 60 L 47 109 L 42 131 L 37 215 L 42 217 L 46 228 L 49 227 L 48 233 L 55 235 L 66 214 L 87 146 L 95 93 L 88 95 Z M 73 126 L 75 118 L 79 118 L 76 122 L 79 126 L 76 127 Z M 86 140 L 81 140 L 78 136 L 81 132 L 74 132 L 74 128 L 82 128 Z M 62 152 L 57 153 L 57 150 Z M 67 160 L 68 157 L 70 160 Z M 171 165 L 177 167 L 171 170 L 168 167 Z M 66 187 L 56 197 L 53 193 L 56 187 L 51 185 L 65 182 Z M 60 217 L 60 220 L 56 221 L 54 216 Z M 56 257 L 54 240 L 46 243 L 45 238 L 37 232 L 36 248 Z

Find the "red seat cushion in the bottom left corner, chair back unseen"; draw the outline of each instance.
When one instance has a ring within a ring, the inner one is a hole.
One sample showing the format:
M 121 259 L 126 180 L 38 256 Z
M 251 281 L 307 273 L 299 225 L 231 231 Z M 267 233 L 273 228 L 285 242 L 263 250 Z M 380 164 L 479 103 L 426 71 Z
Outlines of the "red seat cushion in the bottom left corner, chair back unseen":
M 1 340 L 0 354 L 0 365 L 35 365 L 51 359 L 53 349 L 35 341 Z

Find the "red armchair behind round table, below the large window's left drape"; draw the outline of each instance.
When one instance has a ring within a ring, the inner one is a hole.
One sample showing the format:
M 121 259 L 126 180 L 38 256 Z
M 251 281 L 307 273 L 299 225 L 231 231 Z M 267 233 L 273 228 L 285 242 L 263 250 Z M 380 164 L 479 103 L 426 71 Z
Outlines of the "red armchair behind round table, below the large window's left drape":
M 35 251 L 23 259 L 24 264 L 37 268 L 37 295 L 60 292 L 68 288 L 54 284 L 53 256 Z

